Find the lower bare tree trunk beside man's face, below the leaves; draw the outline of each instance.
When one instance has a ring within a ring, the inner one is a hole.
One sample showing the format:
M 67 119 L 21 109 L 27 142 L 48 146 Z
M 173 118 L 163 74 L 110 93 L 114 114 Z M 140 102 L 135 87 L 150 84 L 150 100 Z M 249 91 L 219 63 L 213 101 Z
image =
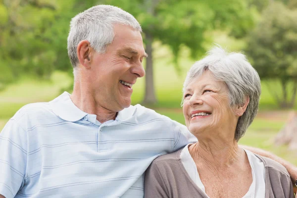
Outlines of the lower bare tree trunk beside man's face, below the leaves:
M 153 82 L 153 67 L 152 67 L 152 42 L 153 38 L 150 33 L 146 33 L 146 52 L 148 53 L 148 57 L 146 59 L 146 92 L 143 103 L 145 104 L 154 104 L 157 102 L 154 90 L 154 82 Z

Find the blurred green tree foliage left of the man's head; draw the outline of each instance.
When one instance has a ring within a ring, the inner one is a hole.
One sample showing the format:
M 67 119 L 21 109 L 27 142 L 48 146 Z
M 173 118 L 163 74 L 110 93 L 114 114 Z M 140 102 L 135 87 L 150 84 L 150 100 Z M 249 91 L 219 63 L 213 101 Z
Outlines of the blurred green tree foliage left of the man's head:
M 70 71 L 70 19 L 95 0 L 0 0 L 0 89 L 22 75 Z M 70 73 L 70 72 L 69 72 Z

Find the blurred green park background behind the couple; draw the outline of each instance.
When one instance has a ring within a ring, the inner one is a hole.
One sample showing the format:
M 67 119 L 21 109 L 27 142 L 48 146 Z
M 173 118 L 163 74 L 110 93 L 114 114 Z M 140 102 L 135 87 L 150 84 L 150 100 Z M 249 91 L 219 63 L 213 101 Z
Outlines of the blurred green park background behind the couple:
M 240 144 L 297 165 L 296 150 L 274 144 L 297 110 L 297 0 L 0 0 L 0 129 L 23 105 L 71 93 L 69 22 L 96 4 L 121 7 L 143 27 L 147 75 L 133 86 L 133 104 L 181 123 L 182 85 L 195 60 L 213 43 L 244 51 L 262 95 Z

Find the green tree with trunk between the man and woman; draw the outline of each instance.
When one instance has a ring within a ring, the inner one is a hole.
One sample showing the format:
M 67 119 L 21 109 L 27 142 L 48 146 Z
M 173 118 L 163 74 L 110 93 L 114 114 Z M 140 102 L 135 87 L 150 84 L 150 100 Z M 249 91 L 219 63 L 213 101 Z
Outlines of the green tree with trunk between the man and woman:
M 193 58 L 205 49 L 205 33 L 215 28 L 230 30 L 240 37 L 253 25 L 248 5 L 243 0 L 104 0 L 133 14 L 143 27 L 146 60 L 146 88 L 144 103 L 157 101 L 153 81 L 154 41 L 170 47 L 177 71 L 181 46 L 191 49 Z

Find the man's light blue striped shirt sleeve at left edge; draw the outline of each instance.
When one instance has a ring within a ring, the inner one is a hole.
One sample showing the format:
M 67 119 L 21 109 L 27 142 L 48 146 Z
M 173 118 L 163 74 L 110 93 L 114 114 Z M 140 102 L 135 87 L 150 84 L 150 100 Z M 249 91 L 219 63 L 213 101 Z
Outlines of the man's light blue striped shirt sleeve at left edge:
M 13 198 L 24 184 L 27 133 L 12 118 L 0 133 L 0 195 Z

